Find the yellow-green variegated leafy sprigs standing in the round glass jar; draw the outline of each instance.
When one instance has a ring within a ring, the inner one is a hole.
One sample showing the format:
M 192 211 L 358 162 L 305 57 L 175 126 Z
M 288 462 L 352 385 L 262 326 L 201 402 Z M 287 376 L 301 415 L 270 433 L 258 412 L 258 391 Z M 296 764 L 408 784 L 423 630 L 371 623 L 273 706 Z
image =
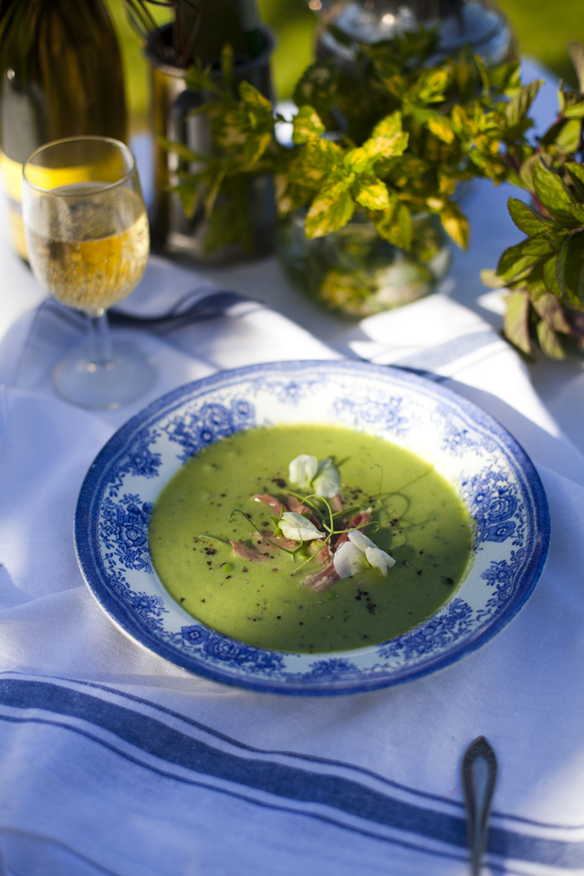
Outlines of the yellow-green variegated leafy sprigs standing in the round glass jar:
M 364 214 L 382 238 L 409 250 L 412 215 L 437 214 L 456 244 L 469 227 L 454 193 L 459 183 L 486 177 L 500 183 L 514 172 L 507 153 L 526 159 L 528 111 L 540 82 L 521 87 L 516 61 L 486 68 L 464 50 L 436 59 L 437 36 L 420 29 L 360 47 L 351 75 L 332 62 L 311 65 L 297 84 L 292 145 L 281 145 L 282 121 L 256 89 L 234 86 L 233 52 L 224 49 L 223 81 L 193 68 L 187 82 L 212 99 L 197 112 L 212 121 L 214 152 L 167 147 L 183 160 L 185 211 L 203 203 L 210 219 L 207 248 L 232 241 L 250 246 L 250 183 L 275 183 L 280 216 L 308 205 L 308 237 L 343 227 Z

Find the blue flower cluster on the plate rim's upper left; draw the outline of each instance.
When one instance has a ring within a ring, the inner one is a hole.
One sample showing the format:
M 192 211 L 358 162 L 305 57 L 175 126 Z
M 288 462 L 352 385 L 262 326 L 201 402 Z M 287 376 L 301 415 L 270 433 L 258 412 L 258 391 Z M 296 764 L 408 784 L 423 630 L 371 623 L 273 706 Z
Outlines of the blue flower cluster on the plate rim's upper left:
M 203 404 L 198 410 L 173 417 L 162 427 L 170 440 L 183 447 L 178 459 L 186 462 L 207 444 L 246 429 L 255 424 L 255 408 L 245 399 L 234 399 L 229 408 L 224 404 Z

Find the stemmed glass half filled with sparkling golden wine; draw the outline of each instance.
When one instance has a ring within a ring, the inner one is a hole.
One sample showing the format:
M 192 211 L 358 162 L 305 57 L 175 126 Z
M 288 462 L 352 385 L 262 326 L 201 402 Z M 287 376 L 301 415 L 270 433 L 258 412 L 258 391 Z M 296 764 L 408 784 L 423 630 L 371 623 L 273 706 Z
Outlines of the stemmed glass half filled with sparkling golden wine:
M 151 387 L 151 359 L 110 337 L 106 311 L 141 280 L 150 249 L 136 162 L 107 137 L 41 146 L 23 168 L 23 218 L 36 279 L 86 314 L 89 337 L 53 372 L 57 391 L 88 408 L 117 408 Z

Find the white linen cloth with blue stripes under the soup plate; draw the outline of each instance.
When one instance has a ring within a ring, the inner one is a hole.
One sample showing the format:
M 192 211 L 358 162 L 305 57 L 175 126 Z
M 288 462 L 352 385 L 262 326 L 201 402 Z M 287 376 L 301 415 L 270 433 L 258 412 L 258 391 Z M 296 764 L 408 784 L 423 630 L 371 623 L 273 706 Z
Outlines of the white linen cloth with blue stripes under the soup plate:
M 138 333 L 161 364 L 152 392 L 267 358 L 337 355 L 273 311 L 234 308 L 176 335 Z M 509 422 L 541 463 L 553 540 L 525 609 L 463 661 L 373 694 L 287 697 L 164 662 L 91 597 L 72 544 L 78 489 L 134 409 L 57 398 L 51 365 L 79 337 L 63 317 L 45 305 L 0 349 L 3 871 L 463 876 L 460 762 L 485 735 L 500 768 L 492 870 L 584 873 L 584 462 L 516 354 L 438 296 L 339 339 L 352 355 L 454 380 Z

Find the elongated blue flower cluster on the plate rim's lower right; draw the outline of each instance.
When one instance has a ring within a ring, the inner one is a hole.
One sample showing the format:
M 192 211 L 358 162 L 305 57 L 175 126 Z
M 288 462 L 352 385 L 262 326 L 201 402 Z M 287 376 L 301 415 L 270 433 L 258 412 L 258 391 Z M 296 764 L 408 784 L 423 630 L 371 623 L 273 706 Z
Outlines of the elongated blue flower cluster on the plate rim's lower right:
M 383 645 L 378 653 L 384 659 L 400 657 L 406 661 L 423 657 L 460 639 L 472 625 L 473 610 L 458 597 L 448 604 L 447 611 Z

